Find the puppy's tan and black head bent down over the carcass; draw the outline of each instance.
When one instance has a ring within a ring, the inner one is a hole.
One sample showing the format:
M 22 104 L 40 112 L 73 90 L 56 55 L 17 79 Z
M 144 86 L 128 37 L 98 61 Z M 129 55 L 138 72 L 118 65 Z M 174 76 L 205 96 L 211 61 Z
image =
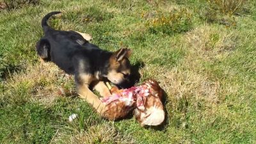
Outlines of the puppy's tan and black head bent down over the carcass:
M 122 48 L 113 52 L 109 59 L 108 79 L 111 83 L 122 85 L 129 83 L 129 76 L 131 74 L 131 63 L 129 57 L 131 56 L 131 49 Z

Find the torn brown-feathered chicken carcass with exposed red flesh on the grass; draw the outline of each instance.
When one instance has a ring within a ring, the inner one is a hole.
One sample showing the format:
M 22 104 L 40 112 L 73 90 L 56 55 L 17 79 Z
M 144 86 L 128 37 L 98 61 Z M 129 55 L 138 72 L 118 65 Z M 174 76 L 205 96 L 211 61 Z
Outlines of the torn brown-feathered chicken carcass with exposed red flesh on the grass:
M 164 121 L 163 98 L 159 84 L 149 79 L 140 86 L 129 89 L 111 88 L 112 95 L 102 99 L 106 105 L 104 118 L 116 120 L 124 118 L 134 110 L 136 120 L 143 125 L 160 125 Z

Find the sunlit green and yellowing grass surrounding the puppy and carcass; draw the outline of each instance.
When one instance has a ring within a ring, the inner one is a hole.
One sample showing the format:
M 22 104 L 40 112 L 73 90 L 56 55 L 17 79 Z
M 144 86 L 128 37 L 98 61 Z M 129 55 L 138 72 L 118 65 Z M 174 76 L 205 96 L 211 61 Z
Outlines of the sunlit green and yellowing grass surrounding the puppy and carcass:
M 256 143 L 255 2 L 3 2 L 0 143 Z M 38 61 L 40 21 L 55 10 L 63 13 L 52 27 L 90 33 L 109 51 L 132 49 L 131 63 L 143 64 L 138 84 L 153 77 L 166 93 L 164 125 L 102 120 L 72 77 Z

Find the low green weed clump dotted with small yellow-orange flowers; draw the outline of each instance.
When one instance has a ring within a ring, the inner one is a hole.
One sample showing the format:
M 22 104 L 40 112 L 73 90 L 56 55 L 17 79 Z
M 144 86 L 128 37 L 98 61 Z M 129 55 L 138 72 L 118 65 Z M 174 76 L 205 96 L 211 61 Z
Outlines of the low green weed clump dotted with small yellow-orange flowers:
M 191 17 L 192 14 L 186 8 L 173 10 L 167 15 L 157 13 L 154 19 L 147 21 L 146 26 L 150 33 L 164 33 L 167 35 L 184 33 L 192 28 Z

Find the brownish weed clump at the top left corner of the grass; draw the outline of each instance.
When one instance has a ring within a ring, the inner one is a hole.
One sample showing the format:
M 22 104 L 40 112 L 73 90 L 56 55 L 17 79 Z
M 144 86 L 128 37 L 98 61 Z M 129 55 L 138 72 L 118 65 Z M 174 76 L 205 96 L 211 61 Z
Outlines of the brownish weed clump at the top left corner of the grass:
M 23 6 L 32 4 L 32 5 L 36 5 L 39 4 L 40 0 L 4 0 L 1 5 L 4 8 L 6 8 L 7 10 L 13 10 L 13 9 L 18 9 L 18 8 L 22 8 Z

